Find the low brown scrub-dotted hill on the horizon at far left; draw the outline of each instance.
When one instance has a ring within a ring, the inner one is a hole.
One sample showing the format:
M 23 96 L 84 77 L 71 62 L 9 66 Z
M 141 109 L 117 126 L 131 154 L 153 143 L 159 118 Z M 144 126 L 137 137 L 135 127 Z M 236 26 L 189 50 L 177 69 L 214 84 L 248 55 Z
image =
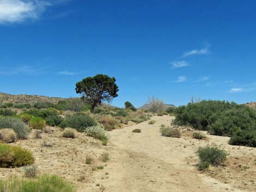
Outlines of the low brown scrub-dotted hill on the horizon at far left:
M 39 95 L 10 95 L 0 92 L 0 103 L 37 103 L 37 102 L 48 102 L 58 103 L 59 101 L 65 100 L 60 97 L 47 97 Z

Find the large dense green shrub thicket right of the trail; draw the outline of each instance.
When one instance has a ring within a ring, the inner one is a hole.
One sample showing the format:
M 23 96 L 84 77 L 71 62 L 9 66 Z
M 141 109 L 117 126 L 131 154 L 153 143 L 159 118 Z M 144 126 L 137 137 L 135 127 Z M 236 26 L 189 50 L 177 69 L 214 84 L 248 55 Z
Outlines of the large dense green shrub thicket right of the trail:
M 176 125 L 192 126 L 214 135 L 232 136 L 240 130 L 256 129 L 256 111 L 225 101 L 188 103 L 175 110 Z

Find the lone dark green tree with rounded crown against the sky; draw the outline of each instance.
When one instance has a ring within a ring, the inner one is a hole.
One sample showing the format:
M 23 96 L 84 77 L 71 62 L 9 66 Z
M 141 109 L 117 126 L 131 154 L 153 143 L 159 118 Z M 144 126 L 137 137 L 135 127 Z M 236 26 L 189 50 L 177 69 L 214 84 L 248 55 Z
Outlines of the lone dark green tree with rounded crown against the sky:
M 76 83 L 76 93 L 82 94 L 82 98 L 92 105 L 90 109 L 92 113 L 94 108 L 102 102 L 110 102 L 117 97 L 118 91 L 115 78 L 102 74 L 84 78 Z

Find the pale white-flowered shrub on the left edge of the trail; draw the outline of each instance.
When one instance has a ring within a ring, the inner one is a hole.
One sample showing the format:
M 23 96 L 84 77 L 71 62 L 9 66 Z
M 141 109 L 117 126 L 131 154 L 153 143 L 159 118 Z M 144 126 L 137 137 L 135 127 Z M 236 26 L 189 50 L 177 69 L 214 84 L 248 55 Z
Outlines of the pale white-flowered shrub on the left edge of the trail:
M 105 127 L 103 125 L 99 124 L 96 126 L 88 127 L 85 133 L 90 137 L 101 140 L 103 145 L 107 144 L 108 134 L 105 131 Z

